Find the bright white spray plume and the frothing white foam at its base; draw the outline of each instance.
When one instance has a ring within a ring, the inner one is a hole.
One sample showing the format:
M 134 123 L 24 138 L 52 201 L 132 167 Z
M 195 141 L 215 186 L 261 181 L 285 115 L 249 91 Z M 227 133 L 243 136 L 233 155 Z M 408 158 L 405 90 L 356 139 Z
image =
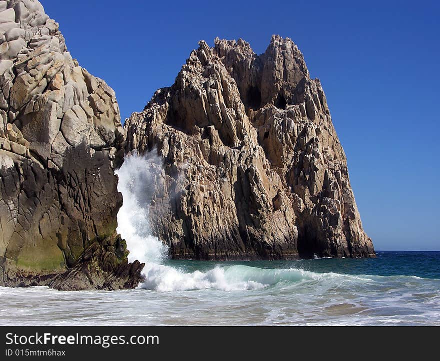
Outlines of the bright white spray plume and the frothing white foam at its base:
M 122 193 L 123 204 L 117 214 L 117 232 L 127 243 L 128 260 L 145 263 L 142 271 L 145 281 L 139 288 L 155 291 L 184 291 L 197 289 L 221 289 L 225 291 L 262 288 L 266 284 L 250 279 L 243 267 L 214 267 L 200 272 L 185 273 L 163 265 L 167 259 L 167 247 L 152 235 L 149 224 L 149 200 L 155 169 L 160 160 L 151 154 L 125 157 L 116 171 L 119 177 L 117 189 Z

